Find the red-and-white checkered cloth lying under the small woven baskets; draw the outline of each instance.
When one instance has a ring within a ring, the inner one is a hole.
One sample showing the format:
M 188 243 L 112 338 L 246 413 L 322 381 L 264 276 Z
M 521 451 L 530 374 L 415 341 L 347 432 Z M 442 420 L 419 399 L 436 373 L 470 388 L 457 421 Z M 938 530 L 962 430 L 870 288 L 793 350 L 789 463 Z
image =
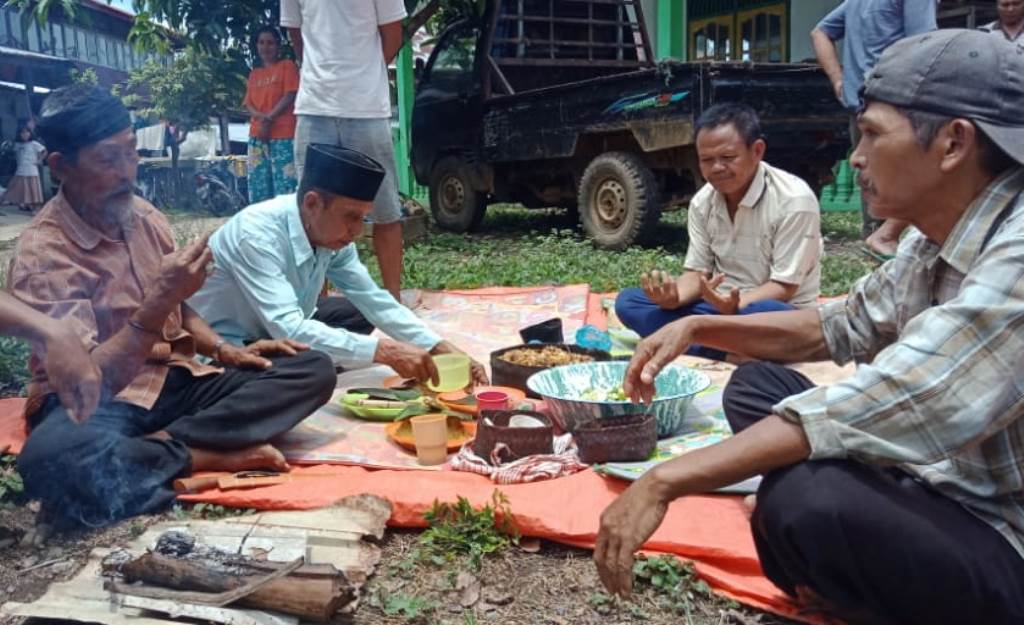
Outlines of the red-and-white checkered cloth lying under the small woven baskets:
M 572 434 L 555 436 L 553 454 L 526 456 L 508 464 L 501 463 L 501 452 L 505 449 L 505 445 L 501 443 L 495 446 L 495 450 L 490 453 L 490 458 L 495 462 L 495 465 L 492 466 L 486 460 L 473 453 L 472 445 L 463 445 L 449 466 L 457 471 L 486 475 L 495 484 L 503 485 L 552 480 L 571 475 L 587 468 L 586 464 L 580 462 Z

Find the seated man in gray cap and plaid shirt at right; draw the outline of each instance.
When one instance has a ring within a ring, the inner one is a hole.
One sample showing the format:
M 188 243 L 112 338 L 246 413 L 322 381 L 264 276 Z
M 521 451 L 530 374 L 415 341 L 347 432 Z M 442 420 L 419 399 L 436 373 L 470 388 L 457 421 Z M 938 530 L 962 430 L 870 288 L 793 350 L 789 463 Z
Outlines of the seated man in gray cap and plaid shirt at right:
M 915 231 L 820 310 L 688 318 L 625 386 L 699 343 L 765 361 L 725 390 L 732 439 L 648 471 L 601 516 L 595 558 L 629 592 L 673 499 L 764 474 L 765 575 L 849 622 L 1024 623 L 1024 46 L 937 31 L 868 77 L 851 159 L 880 218 Z M 828 386 L 775 363 L 856 361 Z

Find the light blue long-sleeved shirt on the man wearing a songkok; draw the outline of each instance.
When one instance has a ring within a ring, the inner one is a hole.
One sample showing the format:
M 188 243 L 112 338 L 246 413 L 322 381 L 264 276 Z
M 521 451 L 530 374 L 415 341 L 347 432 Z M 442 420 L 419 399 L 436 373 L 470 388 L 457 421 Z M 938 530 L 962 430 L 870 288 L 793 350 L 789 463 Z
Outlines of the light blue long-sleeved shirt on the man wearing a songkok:
M 325 351 L 347 368 L 373 363 L 377 338 L 312 319 L 325 279 L 395 340 L 431 349 L 440 342 L 412 310 L 381 289 L 355 245 L 341 250 L 309 244 L 294 194 L 254 204 L 210 237 L 214 269 L 188 305 L 234 344 L 291 338 Z

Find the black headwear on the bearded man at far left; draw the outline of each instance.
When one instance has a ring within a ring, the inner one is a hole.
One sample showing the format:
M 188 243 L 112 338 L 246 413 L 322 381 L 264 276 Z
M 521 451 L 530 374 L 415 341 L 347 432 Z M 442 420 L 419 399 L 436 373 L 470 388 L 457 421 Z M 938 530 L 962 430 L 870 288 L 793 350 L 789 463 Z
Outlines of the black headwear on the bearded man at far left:
M 94 85 L 72 85 L 43 100 L 36 130 L 50 152 L 77 153 L 131 128 L 128 109 L 119 97 Z

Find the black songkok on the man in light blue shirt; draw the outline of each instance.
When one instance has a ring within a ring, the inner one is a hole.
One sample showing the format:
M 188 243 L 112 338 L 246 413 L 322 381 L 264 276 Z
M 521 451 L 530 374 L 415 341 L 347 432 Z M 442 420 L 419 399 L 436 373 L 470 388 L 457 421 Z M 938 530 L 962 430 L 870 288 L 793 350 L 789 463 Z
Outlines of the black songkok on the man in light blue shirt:
M 382 180 L 384 168 L 361 152 L 326 143 L 309 143 L 306 149 L 303 189 L 323 189 L 345 198 L 373 202 Z

